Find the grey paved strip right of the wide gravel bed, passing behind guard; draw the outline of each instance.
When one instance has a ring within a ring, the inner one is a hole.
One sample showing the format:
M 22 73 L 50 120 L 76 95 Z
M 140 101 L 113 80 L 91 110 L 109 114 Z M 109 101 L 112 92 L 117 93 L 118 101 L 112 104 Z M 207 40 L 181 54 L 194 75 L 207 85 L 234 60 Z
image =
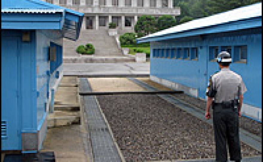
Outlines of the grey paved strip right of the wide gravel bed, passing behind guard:
M 136 83 L 137 85 L 140 85 L 141 87 L 146 88 L 148 90 L 156 90 L 157 89 L 157 88 L 154 88 L 151 85 L 148 85 L 147 83 L 140 81 L 140 80 L 137 80 L 135 78 L 128 78 L 128 79 L 131 80 L 132 82 Z M 204 113 L 200 109 L 195 108 L 195 106 L 190 106 L 189 104 L 184 104 L 184 102 L 181 102 L 179 99 L 177 99 L 175 96 L 172 96 L 172 95 L 158 95 L 158 96 L 163 98 L 164 100 L 172 103 L 173 105 L 177 106 L 178 108 L 181 108 L 181 109 L 187 111 L 188 113 L 192 114 L 193 116 L 198 117 L 199 119 L 203 120 L 204 122 L 209 123 L 210 125 L 213 124 L 212 120 L 206 120 L 204 118 Z M 177 100 L 177 102 L 175 102 L 175 100 Z M 181 106 L 179 106 L 179 105 L 181 105 Z M 198 110 L 196 110 L 196 109 L 198 109 Z M 256 149 L 260 152 L 262 151 L 262 142 L 258 141 L 256 138 L 253 138 L 255 135 L 253 135 L 253 134 L 251 134 L 251 133 L 249 133 L 249 132 L 247 132 L 241 128 L 240 128 L 239 133 L 240 133 L 240 140 L 242 142 L 246 143 L 247 145 L 253 147 L 254 149 Z

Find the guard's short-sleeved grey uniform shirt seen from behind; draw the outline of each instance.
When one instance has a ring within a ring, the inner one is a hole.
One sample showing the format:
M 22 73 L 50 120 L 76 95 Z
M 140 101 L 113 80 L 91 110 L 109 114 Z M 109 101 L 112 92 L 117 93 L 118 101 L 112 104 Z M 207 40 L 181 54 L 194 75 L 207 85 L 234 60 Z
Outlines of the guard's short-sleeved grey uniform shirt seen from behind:
M 216 94 L 210 96 L 210 92 L 214 90 Z M 222 103 L 223 101 L 234 100 L 235 97 L 238 97 L 238 94 L 244 94 L 246 91 L 247 88 L 240 75 L 228 68 L 222 68 L 221 71 L 210 77 L 207 96 L 213 97 L 215 103 Z

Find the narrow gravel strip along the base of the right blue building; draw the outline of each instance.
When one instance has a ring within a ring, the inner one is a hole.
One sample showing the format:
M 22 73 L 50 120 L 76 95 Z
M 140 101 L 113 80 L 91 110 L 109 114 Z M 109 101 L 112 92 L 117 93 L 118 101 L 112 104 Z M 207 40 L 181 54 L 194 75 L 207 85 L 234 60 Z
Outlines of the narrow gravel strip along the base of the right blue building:
M 171 90 L 167 87 L 164 87 L 163 85 L 160 85 L 156 82 L 153 82 L 149 79 L 145 79 L 145 78 L 139 78 L 139 80 L 146 82 L 147 84 L 158 88 L 159 90 Z M 190 103 L 191 105 L 196 106 L 197 108 L 200 108 L 201 110 L 206 109 L 206 102 L 203 100 L 200 100 L 198 98 L 195 97 L 191 97 L 187 94 L 173 94 L 175 97 L 183 100 L 184 102 Z M 247 132 L 253 133 L 254 135 L 257 135 L 259 137 L 262 137 L 262 123 L 259 123 L 255 120 L 252 120 L 250 118 L 247 117 L 241 117 L 240 118 L 240 127 L 244 130 L 246 130 Z

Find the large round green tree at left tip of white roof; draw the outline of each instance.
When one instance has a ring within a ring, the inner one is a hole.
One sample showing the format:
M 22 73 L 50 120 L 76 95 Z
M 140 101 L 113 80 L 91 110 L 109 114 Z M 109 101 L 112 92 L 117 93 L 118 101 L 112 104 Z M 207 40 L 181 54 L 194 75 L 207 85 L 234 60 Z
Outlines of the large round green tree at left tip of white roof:
M 149 15 L 141 16 L 134 26 L 134 30 L 138 35 L 145 36 L 156 31 L 156 24 L 155 17 Z

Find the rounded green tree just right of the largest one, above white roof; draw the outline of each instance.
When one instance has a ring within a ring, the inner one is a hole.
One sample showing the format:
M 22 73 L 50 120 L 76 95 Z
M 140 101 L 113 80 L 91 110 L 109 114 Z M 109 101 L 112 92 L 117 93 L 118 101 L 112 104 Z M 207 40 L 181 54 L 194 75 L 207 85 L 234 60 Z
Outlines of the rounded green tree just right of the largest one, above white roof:
M 157 20 L 156 28 L 158 31 L 173 27 L 176 25 L 176 19 L 172 15 L 160 16 Z

